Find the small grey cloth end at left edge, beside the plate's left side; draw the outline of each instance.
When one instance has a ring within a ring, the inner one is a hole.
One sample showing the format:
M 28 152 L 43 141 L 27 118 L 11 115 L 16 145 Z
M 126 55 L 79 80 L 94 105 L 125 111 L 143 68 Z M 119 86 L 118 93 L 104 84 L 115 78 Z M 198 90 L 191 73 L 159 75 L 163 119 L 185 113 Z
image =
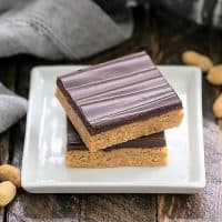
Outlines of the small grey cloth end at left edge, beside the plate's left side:
M 27 112 L 27 100 L 0 83 L 0 133 L 20 120 Z

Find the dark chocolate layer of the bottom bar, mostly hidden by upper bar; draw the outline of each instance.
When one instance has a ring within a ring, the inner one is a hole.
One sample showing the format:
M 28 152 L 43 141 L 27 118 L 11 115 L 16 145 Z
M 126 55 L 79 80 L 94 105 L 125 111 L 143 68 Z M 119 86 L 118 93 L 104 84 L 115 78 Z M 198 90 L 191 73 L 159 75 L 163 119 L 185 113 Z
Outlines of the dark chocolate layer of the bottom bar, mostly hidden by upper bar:
M 88 150 L 82 140 L 80 139 L 78 132 L 71 124 L 67 121 L 67 138 L 68 138 L 68 150 Z M 162 148 L 165 147 L 164 132 L 142 137 L 135 140 L 131 140 L 121 144 L 112 145 L 103 151 L 109 151 L 112 149 L 121 148 Z

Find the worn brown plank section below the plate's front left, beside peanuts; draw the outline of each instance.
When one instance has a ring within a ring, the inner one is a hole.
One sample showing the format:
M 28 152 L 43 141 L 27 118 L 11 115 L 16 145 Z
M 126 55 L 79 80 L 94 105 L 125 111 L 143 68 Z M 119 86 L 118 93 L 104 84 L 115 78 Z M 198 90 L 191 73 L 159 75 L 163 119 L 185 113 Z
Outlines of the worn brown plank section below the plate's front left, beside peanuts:
M 21 191 L 9 205 L 7 221 L 79 221 L 80 201 L 71 194 L 31 194 Z

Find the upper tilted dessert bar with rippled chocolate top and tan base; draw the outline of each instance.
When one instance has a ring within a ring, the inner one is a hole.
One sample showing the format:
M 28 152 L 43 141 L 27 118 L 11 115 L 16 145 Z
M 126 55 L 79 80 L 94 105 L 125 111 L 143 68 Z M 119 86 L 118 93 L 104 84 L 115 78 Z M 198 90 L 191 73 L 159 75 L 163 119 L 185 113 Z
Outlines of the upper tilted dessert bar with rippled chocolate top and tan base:
M 57 98 L 90 151 L 180 124 L 182 102 L 145 52 L 59 77 Z

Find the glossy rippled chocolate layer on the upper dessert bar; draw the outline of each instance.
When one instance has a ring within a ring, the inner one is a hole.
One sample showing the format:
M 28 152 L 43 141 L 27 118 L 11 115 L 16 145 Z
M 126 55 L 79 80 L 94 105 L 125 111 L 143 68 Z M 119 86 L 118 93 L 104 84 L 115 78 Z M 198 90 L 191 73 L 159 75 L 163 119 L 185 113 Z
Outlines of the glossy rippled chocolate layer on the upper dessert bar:
M 90 134 L 182 109 L 145 52 L 65 74 L 57 84 Z

